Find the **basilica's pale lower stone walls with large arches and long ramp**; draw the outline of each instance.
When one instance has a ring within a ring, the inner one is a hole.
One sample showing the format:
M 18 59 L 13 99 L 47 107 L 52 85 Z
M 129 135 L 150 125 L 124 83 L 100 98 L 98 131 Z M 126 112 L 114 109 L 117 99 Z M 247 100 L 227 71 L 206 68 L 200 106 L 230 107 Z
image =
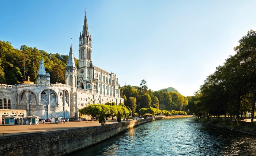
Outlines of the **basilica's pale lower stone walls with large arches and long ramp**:
M 77 92 L 75 108 L 70 106 L 71 94 L 74 93 L 71 93 L 69 85 L 64 84 L 0 84 L 0 99 L 10 99 L 11 110 L 26 110 L 27 116 L 37 115 L 45 119 L 55 116 L 70 118 L 71 110 L 82 109 L 89 104 L 124 103 L 124 99 L 110 94 L 103 95 L 79 88 L 72 90 Z

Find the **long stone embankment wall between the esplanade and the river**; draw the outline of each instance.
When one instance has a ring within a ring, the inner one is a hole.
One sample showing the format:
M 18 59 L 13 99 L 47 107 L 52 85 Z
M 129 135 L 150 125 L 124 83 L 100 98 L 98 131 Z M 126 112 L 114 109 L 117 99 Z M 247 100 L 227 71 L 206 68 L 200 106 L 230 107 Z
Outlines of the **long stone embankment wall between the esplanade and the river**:
M 104 126 L 4 137 L 0 138 L 0 155 L 60 156 L 97 144 L 143 123 L 164 118 L 172 117 L 149 118 Z

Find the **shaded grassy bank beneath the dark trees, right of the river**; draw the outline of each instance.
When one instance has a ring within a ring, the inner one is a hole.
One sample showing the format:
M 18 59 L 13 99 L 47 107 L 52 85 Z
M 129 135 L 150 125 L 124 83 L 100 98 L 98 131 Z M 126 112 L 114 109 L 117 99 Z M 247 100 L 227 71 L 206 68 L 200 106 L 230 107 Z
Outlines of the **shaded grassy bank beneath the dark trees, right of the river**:
M 256 123 L 250 123 L 245 121 L 231 121 L 230 119 L 222 120 L 211 118 L 198 118 L 196 119 L 196 121 L 206 123 L 207 125 L 236 130 L 242 133 L 252 134 L 256 136 Z

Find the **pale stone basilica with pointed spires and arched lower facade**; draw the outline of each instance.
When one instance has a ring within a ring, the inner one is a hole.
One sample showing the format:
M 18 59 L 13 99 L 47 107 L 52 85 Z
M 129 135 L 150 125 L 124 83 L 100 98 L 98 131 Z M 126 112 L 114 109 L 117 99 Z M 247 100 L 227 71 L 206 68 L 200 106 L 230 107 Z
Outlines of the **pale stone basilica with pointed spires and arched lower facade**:
M 93 65 L 91 34 L 84 15 L 83 31 L 79 36 L 79 64 L 75 65 L 72 42 L 65 69 L 65 84 L 50 83 L 44 60 L 41 57 L 37 83 L 0 84 L 0 115 L 26 117 L 36 115 L 41 118 L 78 118 L 78 110 L 89 104 L 124 103 L 116 74 Z M 29 78 L 29 77 L 28 77 Z

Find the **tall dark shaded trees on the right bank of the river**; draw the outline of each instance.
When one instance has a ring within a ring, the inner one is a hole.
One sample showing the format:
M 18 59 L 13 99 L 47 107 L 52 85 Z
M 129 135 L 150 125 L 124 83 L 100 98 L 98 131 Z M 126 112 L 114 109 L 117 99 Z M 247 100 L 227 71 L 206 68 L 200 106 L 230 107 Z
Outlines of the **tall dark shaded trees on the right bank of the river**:
M 227 115 L 240 117 L 255 112 L 256 100 L 256 32 L 248 31 L 236 52 L 212 73 L 194 96 L 189 97 L 188 109 L 199 117 Z

